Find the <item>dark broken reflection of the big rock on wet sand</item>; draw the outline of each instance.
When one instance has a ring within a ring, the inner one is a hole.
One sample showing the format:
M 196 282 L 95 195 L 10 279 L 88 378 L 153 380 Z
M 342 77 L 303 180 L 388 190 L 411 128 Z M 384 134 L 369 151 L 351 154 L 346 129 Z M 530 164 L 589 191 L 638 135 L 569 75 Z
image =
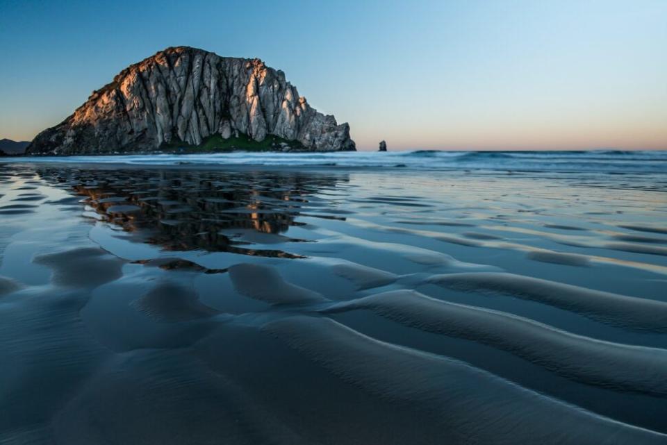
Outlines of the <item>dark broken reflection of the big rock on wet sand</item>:
M 301 257 L 277 249 L 253 249 L 252 244 L 304 241 L 279 234 L 301 224 L 295 217 L 312 210 L 310 194 L 341 180 L 340 176 L 263 174 L 249 178 L 252 174 L 177 170 L 95 171 L 93 175 L 90 171 L 44 169 L 40 174 L 88 196 L 86 203 L 102 220 L 145 233 L 149 242 L 163 249 L 278 258 Z M 263 236 L 249 236 L 247 230 Z

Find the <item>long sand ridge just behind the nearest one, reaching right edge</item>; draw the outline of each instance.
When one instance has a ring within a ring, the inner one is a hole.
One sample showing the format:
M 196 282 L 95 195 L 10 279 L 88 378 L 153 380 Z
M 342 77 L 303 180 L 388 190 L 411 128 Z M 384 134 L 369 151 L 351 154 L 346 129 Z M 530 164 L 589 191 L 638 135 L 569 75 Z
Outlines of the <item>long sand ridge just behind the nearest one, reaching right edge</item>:
M 516 315 L 432 299 L 414 291 L 384 292 L 327 310 L 368 309 L 406 326 L 509 351 L 588 385 L 667 396 L 667 351 L 574 335 Z

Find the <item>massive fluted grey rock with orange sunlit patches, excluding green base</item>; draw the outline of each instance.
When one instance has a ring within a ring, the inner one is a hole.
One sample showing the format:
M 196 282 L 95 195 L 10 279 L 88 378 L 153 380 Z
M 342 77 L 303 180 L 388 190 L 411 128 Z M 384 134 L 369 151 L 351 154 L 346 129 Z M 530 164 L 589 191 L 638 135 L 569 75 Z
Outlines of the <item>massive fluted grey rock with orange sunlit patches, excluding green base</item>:
M 355 150 L 349 125 L 311 108 L 285 74 L 258 59 L 167 48 L 115 76 L 27 154 L 103 154 L 267 135 L 309 151 Z

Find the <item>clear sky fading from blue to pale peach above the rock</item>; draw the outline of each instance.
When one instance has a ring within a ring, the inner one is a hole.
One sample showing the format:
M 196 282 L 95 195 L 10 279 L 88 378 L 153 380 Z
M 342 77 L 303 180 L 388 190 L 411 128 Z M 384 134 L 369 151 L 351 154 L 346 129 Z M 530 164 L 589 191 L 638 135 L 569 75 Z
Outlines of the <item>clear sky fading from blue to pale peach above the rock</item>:
M 179 45 L 282 69 L 363 150 L 667 149 L 667 0 L 0 0 L 0 138 Z

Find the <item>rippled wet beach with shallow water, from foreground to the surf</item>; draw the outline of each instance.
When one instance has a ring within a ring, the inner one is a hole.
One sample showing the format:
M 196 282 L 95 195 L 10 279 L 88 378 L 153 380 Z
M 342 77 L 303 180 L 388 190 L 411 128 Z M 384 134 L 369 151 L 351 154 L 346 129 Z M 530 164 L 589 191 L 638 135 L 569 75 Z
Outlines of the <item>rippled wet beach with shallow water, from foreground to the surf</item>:
M 667 443 L 667 176 L 0 163 L 0 444 Z

